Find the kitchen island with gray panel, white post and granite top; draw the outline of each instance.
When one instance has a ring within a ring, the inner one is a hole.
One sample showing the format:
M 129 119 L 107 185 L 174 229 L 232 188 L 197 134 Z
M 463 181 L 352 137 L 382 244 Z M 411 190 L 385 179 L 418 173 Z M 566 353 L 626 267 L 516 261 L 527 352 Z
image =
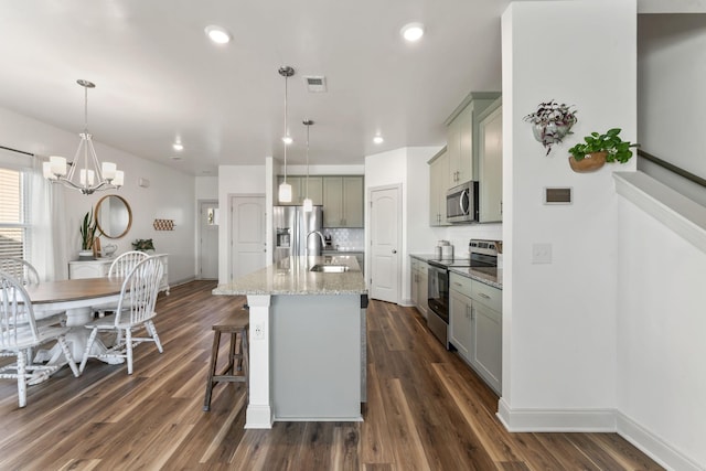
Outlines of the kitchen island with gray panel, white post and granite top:
M 354 256 L 286 258 L 213 293 L 247 296 L 245 428 L 362 420 L 367 289 Z

